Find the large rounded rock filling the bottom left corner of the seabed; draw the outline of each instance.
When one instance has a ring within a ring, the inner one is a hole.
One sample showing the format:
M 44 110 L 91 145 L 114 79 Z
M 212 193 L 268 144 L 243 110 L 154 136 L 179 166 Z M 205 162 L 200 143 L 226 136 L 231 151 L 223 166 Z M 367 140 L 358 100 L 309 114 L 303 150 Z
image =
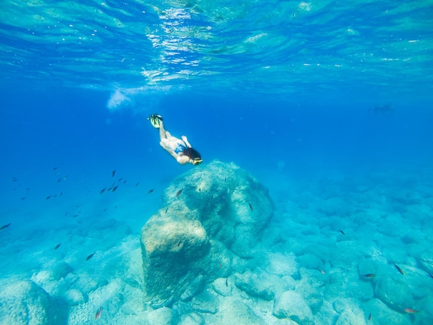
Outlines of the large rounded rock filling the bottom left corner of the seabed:
M 53 301 L 33 281 L 1 281 L 0 324 L 58 324 Z

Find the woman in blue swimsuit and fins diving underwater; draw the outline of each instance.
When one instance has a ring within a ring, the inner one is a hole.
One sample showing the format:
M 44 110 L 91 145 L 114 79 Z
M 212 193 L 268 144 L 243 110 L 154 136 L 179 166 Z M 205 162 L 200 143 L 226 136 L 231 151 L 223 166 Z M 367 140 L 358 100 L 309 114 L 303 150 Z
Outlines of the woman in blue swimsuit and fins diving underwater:
M 186 136 L 181 136 L 181 139 L 178 139 L 164 129 L 163 117 L 161 115 L 152 114 L 147 120 L 150 120 L 151 124 L 156 129 L 159 129 L 159 144 L 161 147 L 171 154 L 179 164 L 192 163 L 192 165 L 199 165 L 203 161 L 199 151 L 191 147 Z

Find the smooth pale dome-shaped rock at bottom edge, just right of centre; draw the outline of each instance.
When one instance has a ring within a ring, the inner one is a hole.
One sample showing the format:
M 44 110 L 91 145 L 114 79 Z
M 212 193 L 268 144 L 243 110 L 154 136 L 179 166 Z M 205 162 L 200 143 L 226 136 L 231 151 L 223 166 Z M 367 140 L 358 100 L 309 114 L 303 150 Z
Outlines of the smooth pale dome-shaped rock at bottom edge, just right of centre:
M 286 291 L 277 296 L 274 302 L 273 315 L 278 318 L 290 318 L 300 325 L 314 324 L 310 306 L 295 291 Z

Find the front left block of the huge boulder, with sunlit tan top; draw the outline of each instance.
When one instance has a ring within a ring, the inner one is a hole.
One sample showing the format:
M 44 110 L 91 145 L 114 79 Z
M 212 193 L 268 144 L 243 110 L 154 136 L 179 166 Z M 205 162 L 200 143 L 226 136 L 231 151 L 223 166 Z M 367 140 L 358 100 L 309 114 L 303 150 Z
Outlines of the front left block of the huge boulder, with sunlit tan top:
M 145 297 L 154 308 L 180 299 L 200 275 L 195 264 L 208 254 L 210 243 L 201 223 L 192 219 L 193 213 L 184 210 L 176 219 L 159 214 L 142 229 Z

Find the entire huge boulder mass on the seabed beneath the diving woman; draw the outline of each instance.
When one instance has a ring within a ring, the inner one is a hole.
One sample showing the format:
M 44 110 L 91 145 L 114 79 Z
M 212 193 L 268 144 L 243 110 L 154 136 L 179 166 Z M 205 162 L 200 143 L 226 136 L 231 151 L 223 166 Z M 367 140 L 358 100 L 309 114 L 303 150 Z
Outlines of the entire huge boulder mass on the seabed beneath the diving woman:
M 140 238 L 145 298 L 153 308 L 192 299 L 204 284 L 228 277 L 234 257 L 252 257 L 274 211 L 263 185 L 219 161 L 176 178 L 163 201 Z

